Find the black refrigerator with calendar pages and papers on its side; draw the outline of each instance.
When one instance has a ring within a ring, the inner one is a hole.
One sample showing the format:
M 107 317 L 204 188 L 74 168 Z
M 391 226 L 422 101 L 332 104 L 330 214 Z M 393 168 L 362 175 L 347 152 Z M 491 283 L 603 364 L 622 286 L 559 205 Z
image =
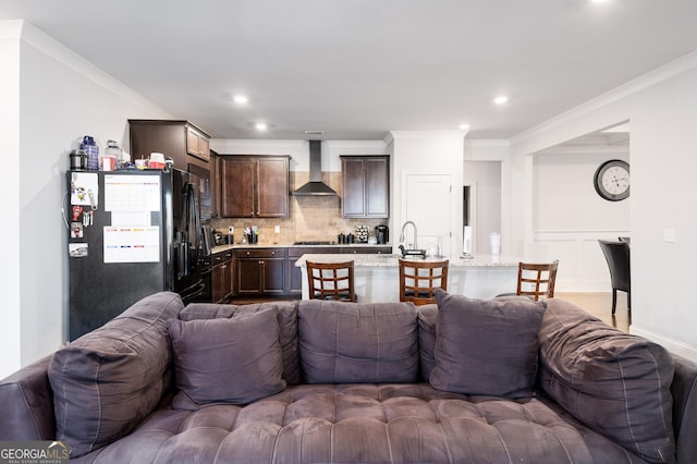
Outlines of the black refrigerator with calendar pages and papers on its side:
M 176 169 L 68 172 L 71 341 L 152 293 L 199 297 L 204 182 Z

